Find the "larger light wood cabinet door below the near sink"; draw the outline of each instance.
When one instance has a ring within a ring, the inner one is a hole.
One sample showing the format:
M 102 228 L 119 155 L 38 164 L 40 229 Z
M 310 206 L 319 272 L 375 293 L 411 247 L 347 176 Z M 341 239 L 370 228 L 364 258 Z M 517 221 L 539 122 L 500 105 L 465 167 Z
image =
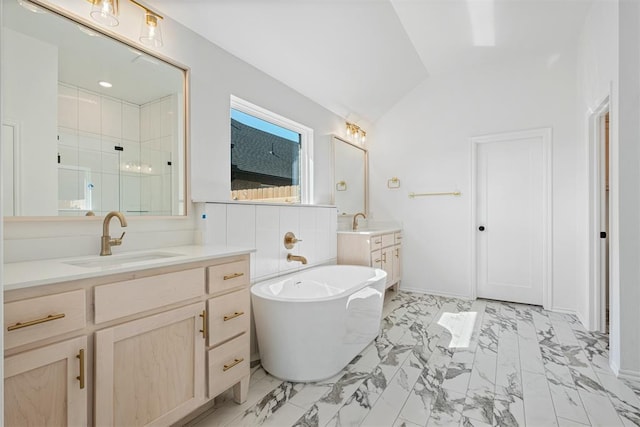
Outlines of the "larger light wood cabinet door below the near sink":
M 204 303 L 96 332 L 97 426 L 167 425 L 205 401 Z

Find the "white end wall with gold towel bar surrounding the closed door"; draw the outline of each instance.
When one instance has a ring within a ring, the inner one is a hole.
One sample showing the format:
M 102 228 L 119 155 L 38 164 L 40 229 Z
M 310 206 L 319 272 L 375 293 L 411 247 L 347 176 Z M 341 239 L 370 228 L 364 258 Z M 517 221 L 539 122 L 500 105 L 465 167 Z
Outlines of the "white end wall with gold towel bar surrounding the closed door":
M 553 129 L 553 308 L 574 311 L 576 271 L 575 56 L 528 57 L 432 77 L 375 124 L 371 213 L 404 226 L 403 288 L 471 295 L 470 137 Z M 400 190 L 387 189 L 397 176 Z M 409 192 L 462 191 L 409 199 Z M 583 213 L 586 215 L 586 212 Z M 582 284 L 580 284 L 582 285 Z

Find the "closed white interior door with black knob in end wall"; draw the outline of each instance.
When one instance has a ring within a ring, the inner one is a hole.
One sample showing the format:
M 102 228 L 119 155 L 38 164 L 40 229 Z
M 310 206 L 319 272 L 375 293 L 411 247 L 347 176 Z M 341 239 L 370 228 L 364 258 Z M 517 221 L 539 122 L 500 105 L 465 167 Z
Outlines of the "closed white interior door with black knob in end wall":
M 543 304 L 545 135 L 531 131 L 474 141 L 478 297 Z

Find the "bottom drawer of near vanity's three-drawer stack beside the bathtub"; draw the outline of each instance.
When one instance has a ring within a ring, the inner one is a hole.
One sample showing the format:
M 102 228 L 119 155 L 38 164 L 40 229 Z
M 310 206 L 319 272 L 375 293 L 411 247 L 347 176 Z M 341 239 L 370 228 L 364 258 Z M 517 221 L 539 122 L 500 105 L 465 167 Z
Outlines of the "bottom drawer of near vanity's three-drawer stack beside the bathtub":
M 249 375 L 249 334 L 209 350 L 207 355 L 209 398 L 215 397 Z

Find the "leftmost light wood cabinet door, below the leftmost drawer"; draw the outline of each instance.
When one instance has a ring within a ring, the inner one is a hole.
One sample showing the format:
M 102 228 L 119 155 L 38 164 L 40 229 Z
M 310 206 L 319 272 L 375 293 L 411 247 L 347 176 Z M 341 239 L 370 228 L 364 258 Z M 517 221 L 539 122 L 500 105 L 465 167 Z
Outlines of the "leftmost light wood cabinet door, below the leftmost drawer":
M 4 425 L 86 426 L 86 348 L 80 337 L 5 358 Z

